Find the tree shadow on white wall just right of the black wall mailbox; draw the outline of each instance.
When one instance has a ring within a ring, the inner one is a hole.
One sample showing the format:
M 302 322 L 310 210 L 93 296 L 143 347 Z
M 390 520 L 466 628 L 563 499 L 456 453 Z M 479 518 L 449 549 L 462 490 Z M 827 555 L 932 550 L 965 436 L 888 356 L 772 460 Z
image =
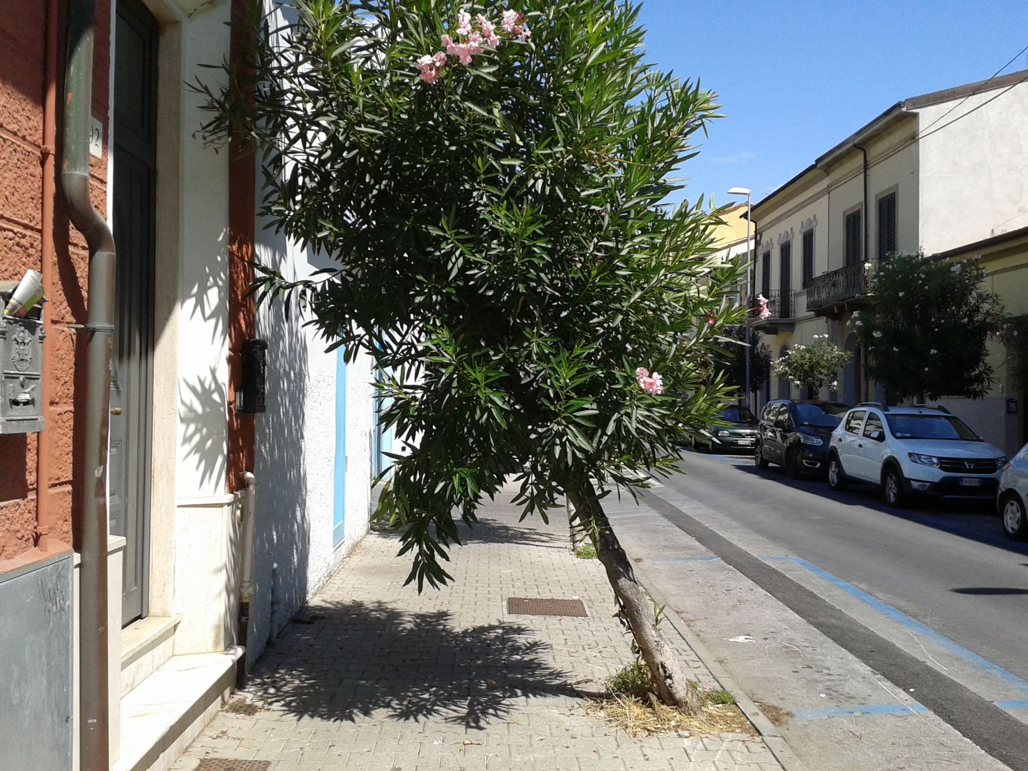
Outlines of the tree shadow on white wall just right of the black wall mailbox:
M 279 303 L 258 310 L 257 336 L 267 341 L 266 411 L 257 415 L 255 592 L 250 605 L 255 661 L 307 598 L 306 464 L 303 432 L 307 346 L 295 316 Z

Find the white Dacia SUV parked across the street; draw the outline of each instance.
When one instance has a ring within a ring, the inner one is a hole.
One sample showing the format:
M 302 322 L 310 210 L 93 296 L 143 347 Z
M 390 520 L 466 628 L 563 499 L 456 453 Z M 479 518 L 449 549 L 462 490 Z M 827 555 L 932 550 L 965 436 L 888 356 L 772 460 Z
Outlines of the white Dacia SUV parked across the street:
M 1006 456 L 942 407 L 887 407 L 862 402 L 830 440 L 829 485 L 880 484 L 885 502 L 905 506 L 913 493 L 994 498 Z

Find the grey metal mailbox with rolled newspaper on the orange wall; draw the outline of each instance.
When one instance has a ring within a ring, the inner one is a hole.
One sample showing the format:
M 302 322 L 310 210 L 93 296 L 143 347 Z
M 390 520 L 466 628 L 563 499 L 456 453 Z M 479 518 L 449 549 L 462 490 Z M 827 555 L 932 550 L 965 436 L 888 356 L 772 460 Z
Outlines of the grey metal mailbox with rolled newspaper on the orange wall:
M 0 314 L 17 282 L 0 282 Z M 22 319 L 0 315 L 0 434 L 43 430 L 43 306 Z

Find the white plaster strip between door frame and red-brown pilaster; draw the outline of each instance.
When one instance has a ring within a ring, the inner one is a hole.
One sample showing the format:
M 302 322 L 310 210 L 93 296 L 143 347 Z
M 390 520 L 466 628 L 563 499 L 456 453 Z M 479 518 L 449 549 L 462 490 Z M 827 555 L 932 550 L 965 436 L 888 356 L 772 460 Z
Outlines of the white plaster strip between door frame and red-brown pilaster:
M 228 50 L 229 4 L 183 19 L 182 76 L 210 81 Z M 185 86 L 181 86 L 185 89 Z M 201 100 L 182 93 L 180 113 L 177 498 L 225 490 L 228 382 L 228 158 L 194 137 L 208 118 Z M 159 213 L 158 213 L 159 216 Z

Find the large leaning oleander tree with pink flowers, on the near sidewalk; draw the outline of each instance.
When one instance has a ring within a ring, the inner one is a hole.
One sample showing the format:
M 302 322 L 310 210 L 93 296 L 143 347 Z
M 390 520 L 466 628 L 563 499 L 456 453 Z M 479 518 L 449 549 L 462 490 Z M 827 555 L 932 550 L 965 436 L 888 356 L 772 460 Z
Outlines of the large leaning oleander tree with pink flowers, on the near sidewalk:
M 646 64 L 624 0 L 260 12 L 194 84 L 204 135 L 254 149 L 262 214 L 335 261 L 302 281 L 258 266 L 255 291 L 374 357 L 404 450 L 375 516 L 402 529 L 408 582 L 451 579 L 455 516 L 507 477 L 525 516 L 566 494 L 658 695 L 698 712 L 602 501 L 673 472 L 731 390 L 701 364 L 744 323 L 739 269 L 709 256 L 712 201 L 662 204 L 714 96 Z

